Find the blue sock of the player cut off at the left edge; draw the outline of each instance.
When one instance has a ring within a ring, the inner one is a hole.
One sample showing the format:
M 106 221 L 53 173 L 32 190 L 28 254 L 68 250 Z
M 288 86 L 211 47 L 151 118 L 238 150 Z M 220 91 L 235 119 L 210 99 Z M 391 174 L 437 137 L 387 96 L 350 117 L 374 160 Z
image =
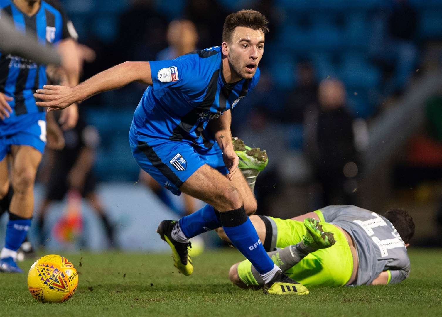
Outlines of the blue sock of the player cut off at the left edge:
M 0 253 L 0 258 L 3 259 L 8 256 L 12 256 L 14 259 L 16 258 L 16 252 L 20 248 L 22 242 L 25 240 L 30 224 L 30 219 L 25 219 L 9 213 L 9 221 L 6 225 L 5 244 L 2 252 Z M 13 256 L 14 253 L 15 257 Z

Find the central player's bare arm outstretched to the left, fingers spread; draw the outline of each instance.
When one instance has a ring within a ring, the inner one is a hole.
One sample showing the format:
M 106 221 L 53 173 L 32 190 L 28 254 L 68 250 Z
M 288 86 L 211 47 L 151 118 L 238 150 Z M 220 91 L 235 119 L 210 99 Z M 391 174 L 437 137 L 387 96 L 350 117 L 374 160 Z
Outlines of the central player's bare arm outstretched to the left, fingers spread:
M 133 81 L 152 85 L 150 65 L 147 61 L 126 61 L 92 76 L 75 87 L 44 85 L 37 89 L 35 98 L 42 99 L 35 104 L 48 107 L 48 111 L 64 109 L 72 103 L 81 102 L 89 97 L 121 88 Z

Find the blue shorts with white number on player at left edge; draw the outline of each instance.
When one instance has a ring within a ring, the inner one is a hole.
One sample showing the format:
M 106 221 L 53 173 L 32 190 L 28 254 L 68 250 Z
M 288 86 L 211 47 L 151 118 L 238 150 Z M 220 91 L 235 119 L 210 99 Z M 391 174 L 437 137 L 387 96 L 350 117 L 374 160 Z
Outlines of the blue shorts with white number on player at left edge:
M 46 121 L 38 120 L 19 132 L 0 137 L 0 160 L 11 152 L 11 145 L 29 145 L 43 153 L 46 145 Z

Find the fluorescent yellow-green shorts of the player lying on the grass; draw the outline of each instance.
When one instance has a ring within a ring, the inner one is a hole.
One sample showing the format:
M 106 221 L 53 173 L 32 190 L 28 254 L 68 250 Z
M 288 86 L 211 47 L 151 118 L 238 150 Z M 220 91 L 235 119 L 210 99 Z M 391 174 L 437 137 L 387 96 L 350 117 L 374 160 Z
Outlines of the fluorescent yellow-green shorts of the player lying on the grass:
M 277 230 L 276 234 L 272 233 L 272 245 L 276 248 L 285 248 L 297 244 L 306 233 L 304 222 L 265 218 L 271 222 L 271 227 Z M 322 225 L 325 231 L 331 231 L 334 234 L 336 243 L 330 248 L 309 253 L 298 264 L 288 269 L 286 274 L 307 287 L 312 285 L 344 286 L 351 278 L 353 271 L 353 257 L 347 238 L 334 225 L 326 222 Z M 272 257 L 272 260 L 278 265 L 278 259 L 275 256 Z M 247 285 L 258 285 L 251 272 L 251 263 L 248 260 L 244 260 L 239 264 L 238 276 Z

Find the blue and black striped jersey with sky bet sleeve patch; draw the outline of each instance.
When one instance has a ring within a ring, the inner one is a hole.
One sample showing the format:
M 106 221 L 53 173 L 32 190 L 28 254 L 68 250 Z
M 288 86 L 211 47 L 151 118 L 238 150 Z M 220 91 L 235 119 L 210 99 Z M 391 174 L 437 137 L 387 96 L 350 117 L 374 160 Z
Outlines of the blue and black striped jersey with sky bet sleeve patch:
M 221 47 L 195 51 L 169 61 L 150 61 L 153 86 L 144 92 L 133 115 L 135 133 L 149 145 L 184 141 L 210 149 L 214 137 L 206 126 L 243 98 L 259 80 L 227 84 L 222 74 Z

